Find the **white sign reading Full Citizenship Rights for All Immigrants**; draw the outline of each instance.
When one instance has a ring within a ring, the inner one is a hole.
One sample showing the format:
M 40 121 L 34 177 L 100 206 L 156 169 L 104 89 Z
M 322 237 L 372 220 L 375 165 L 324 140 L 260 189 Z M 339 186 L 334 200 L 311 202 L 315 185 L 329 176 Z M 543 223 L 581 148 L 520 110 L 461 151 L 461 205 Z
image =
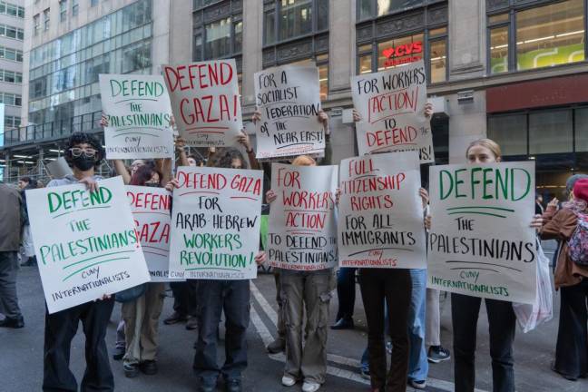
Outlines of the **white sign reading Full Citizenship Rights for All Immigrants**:
M 426 269 L 417 152 L 341 162 L 340 267 Z

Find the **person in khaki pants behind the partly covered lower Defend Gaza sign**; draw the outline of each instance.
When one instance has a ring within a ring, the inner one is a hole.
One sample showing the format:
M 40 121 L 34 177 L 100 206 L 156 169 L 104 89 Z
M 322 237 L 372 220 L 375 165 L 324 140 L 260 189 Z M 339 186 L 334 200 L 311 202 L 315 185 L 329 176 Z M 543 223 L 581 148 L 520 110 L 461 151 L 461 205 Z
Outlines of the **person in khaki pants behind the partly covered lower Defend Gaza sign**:
M 134 172 L 131 185 L 161 187 L 162 173 L 150 165 Z M 122 304 L 126 349 L 122 358 L 124 376 L 137 377 L 157 373 L 157 346 L 159 318 L 163 308 L 165 283 L 145 283 L 141 297 Z

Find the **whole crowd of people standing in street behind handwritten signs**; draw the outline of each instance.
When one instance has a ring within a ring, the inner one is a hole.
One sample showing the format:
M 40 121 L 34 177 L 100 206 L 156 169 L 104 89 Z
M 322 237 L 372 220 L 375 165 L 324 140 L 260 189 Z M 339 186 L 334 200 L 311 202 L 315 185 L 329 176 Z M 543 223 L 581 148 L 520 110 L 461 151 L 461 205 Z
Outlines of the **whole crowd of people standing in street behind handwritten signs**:
M 426 114 L 431 114 L 430 106 Z M 356 113 L 356 120 L 358 115 Z M 253 117 L 259 121 L 259 113 Z M 292 165 L 315 166 L 330 164 L 328 116 L 319 113 L 318 121 L 327 135 L 324 158 L 315 160 L 307 155 L 294 158 Z M 103 125 L 106 125 L 103 121 Z M 269 179 L 270 164 L 258 162 L 249 137 L 242 133 L 237 148 L 211 149 L 206 160 L 186 155 L 184 142 L 176 142 L 177 162 L 136 160 L 127 167 L 113 162 L 115 174 L 127 184 L 164 187 L 172 191 L 178 186 L 173 180 L 173 166 L 201 166 L 263 170 Z M 241 151 L 245 151 L 247 158 Z M 101 177 L 96 169 L 105 158 L 102 143 L 92 134 L 73 133 L 65 148 L 65 156 L 73 174 L 54 179 L 47 187 L 83 183 L 91 191 L 99 187 Z M 500 147 L 488 139 L 472 142 L 464 152 L 471 164 L 500 162 Z M 266 201 L 272 203 L 276 192 L 266 183 Z M 30 178 L 19 181 L 21 190 L 38 186 Z M 569 240 L 580 226 L 588 226 L 588 176 L 574 175 L 566 183 L 568 201 L 551 201 L 546 208 L 529 217 L 529 225 L 544 240 L 558 240 L 554 284 L 561 290 L 559 333 L 553 370 L 569 380 L 588 376 L 588 267 L 570 257 Z M 415 198 L 422 201 L 423 230 L 435 217 L 428 214 L 428 193 L 421 189 Z M 0 184 L 0 311 L 5 318 L 0 327 L 25 326 L 16 296 L 18 254 L 24 265 L 33 265 L 34 250 L 28 229 L 25 193 L 4 183 Z M 500 230 L 496 228 L 496 230 Z M 588 231 L 587 231 L 588 232 Z M 574 244 L 577 250 L 577 244 Z M 585 245 L 585 244 L 584 244 Z M 23 250 L 21 250 L 21 247 Z M 585 250 L 585 248 L 584 248 Z M 255 258 L 258 265 L 267 257 L 263 250 Z M 281 384 L 292 387 L 302 383 L 304 392 L 315 392 L 327 374 L 327 341 L 329 303 L 335 289 L 338 313 L 332 330 L 355 328 L 354 304 L 356 280 L 363 299 L 368 324 L 367 348 L 361 356 L 361 374 L 368 377 L 374 392 L 404 391 L 407 385 L 426 388 L 430 363 L 451 358 L 440 339 L 440 292 L 426 289 L 426 270 L 351 269 L 316 271 L 274 270 L 279 305 L 278 336 L 268 347 L 270 353 L 285 352 L 286 364 Z M 198 390 L 216 390 L 220 378 L 230 392 L 241 390 L 241 375 L 247 368 L 247 329 L 250 324 L 249 280 L 188 279 L 170 284 L 173 313 L 163 319 L 165 325 L 185 322 L 187 329 L 198 329 L 194 343 L 193 369 L 198 377 Z M 113 358 L 122 360 L 126 377 L 158 372 L 157 350 L 160 318 L 165 292 L 164 283 L 149 283 L 138 298 L 122 304 L 122 320 L 113 343 Z M 115 295 L 84 303 L 53 314 L 45 314 L 44 325 L 44 391 L 75 391 L 77 381 L 70 370 L 72 339 L 80 321 L 85 335 L 86 371 L 83 391 L 114 389 L 108 348 L 105 340 L 109 320 L 115 306 Z M 475 390 L 475 348 L 477 320 L 482 301 L 489 322 L 490 356 L 492 358 L 493 390 L 515 391 L 516 319 L 511 302 L 451 294 L 453 324 L 453 357 L 455 390 Z M 217 362 L 217 342 L 221 313 L 226 325 L 225 361 Z M 331 332 L 332 333 L 332 332 Z M 361 353 L 358 353 L 358 356 Z M 389 366 L 387 367 L 387 363 Z

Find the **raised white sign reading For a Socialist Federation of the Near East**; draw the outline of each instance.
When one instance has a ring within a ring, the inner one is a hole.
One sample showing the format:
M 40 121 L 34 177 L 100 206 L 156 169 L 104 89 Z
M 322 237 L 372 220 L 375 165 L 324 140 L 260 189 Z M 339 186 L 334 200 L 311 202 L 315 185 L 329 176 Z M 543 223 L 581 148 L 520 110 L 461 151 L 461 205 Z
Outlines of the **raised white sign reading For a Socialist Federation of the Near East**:
M 255 102 L 261 113 L 258 159 L 324 152 L 316 66 L 284 65 L 255 73 Z

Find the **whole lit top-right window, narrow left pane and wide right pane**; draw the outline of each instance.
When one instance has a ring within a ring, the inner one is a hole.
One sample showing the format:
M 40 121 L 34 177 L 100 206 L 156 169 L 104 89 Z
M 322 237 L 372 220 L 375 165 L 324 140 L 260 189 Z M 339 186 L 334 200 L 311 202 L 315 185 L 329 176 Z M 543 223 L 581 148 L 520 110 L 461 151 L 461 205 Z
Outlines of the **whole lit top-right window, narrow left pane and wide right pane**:
M 488 15 L 490 73 L 584 61 L 584 0 L 566 0 L 533 8 L 521 6 L 512 6 L 508 13 L 501 10 L 500 14 Z

